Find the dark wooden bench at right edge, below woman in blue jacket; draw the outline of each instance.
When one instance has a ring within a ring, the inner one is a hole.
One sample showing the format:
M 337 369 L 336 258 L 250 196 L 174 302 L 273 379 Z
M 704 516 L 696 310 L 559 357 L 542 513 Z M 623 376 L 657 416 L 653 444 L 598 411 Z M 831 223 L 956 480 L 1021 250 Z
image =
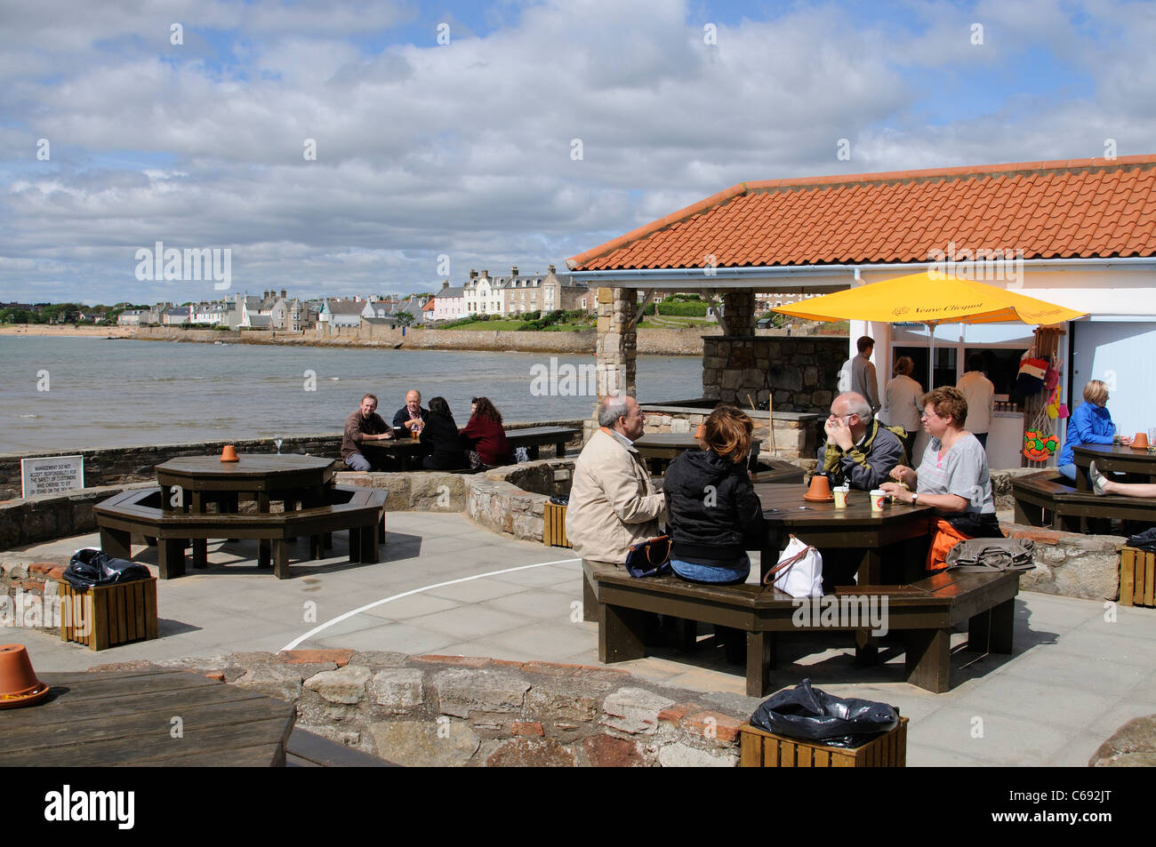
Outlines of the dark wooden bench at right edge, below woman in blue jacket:
M 1054 470 L 1015 477 L 1011 496 L 1015 522 L 1033 527 L 1083 533 L 1089 518 L 1156 522 L 1156 499 L 1077 491 Z

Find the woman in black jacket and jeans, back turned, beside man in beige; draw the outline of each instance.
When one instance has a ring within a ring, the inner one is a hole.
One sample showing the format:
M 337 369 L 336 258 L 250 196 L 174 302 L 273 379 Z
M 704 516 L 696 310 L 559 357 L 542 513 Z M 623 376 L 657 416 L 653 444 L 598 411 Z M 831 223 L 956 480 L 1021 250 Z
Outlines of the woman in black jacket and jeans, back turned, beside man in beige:
M 762 547 L 763 504 L 747 474 L 751 419 L 719 406 L 703 424 L 706 449 L 688 449 L 666 471 L 670 566 L 695 582 L 743 582 L 747 550 Z

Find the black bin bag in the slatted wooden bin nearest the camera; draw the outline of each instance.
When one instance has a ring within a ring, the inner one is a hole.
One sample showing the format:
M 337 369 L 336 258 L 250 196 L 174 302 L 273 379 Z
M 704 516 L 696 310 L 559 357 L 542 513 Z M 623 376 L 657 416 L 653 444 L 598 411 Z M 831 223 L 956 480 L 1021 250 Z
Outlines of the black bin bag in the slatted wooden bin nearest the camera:
M 855 748 L 899 726 L 899 712 L 885 703 L 833 697 L 803 679 L 756 708 L 750 725 L 787 738 Z

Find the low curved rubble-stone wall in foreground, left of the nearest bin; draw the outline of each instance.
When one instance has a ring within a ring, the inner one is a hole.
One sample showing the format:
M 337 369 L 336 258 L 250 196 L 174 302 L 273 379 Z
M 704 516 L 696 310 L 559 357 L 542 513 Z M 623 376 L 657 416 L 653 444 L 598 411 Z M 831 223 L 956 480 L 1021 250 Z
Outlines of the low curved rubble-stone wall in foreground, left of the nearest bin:
M 301 729 L 412 767 L 734 767 L 757 700 L 702 694 L 602 667 L 306 649 L 184 668 L 297 706 Z

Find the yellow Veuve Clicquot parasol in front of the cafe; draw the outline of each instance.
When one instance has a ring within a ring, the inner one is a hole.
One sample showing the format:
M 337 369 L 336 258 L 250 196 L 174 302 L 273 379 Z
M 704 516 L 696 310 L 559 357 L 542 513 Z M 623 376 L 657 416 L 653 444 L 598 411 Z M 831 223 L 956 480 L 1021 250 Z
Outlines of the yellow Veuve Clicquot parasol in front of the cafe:
M 776 306 L 775 312 L 806 320 L 867 320 L 880 324 L 926 324 L 932 362 L 938 324 L 1061 324 L 1087 312 L 975 280 L 933 276 L 927 272 L 873 282 L 833 295 Z M 934 367 L 929 367 L 934 382 Z

